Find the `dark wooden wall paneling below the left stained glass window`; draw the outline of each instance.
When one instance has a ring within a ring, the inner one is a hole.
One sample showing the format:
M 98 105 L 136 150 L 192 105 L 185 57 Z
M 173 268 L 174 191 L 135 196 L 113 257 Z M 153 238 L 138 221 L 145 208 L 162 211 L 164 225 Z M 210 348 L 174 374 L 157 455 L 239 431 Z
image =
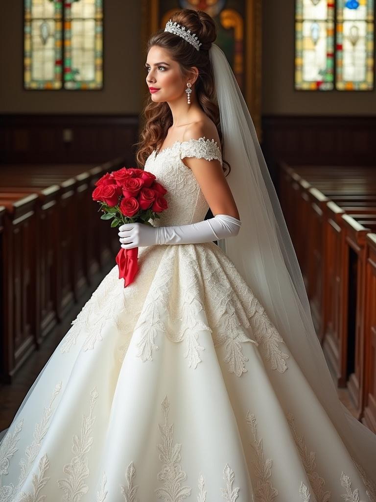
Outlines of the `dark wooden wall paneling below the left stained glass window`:
M 122 157 L 133 166 L 136 115 L 0 115 L 0 164 L 101 164 Z

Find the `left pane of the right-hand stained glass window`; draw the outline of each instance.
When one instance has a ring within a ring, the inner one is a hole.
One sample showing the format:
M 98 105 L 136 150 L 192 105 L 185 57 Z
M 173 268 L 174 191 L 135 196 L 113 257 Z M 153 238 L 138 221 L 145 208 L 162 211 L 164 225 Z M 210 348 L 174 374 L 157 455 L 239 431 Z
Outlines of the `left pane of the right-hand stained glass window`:
M 333 89 L 334 0 L 296 0 L 295 89 Z

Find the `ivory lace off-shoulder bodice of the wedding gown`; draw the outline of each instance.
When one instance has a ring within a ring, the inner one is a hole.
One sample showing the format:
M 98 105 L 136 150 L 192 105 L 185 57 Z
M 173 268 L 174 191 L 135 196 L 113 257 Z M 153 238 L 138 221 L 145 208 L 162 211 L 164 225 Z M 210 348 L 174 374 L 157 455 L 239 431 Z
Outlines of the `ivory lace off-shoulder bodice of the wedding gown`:
M 203 138 L 176 141 L 159 153 L 155 150 L 145 162 L 145 171 L 156 176 L 156 181 L 167 190 L 168 208 L 160 218 L 150 222 L 153 226 L 185 225 L 202 221 L 209 205 L 195 175 L 182 162 L 185 157 L 217 159 L 222 165 L 221 150 L 214 140 Z

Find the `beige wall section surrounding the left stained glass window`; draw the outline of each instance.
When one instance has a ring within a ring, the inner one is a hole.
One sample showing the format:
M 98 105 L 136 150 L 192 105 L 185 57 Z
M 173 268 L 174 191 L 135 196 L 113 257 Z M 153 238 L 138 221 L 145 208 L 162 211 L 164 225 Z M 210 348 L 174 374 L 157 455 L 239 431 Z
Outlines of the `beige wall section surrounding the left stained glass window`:
M 23 89 L 23 0 L 4 2 L 0 16 L 0 113 L 138 113 L 141 2 L 108 0 L 104 12 L 104 89 Z

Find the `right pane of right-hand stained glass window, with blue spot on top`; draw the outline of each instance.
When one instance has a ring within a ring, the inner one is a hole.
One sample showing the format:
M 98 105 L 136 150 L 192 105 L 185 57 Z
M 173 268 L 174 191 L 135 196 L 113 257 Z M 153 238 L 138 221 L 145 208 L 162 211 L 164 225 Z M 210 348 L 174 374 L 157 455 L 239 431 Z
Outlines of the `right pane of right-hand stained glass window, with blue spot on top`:
M 373 90 L 373 9 L 373 0 L 337 0 L 338 90 Z

